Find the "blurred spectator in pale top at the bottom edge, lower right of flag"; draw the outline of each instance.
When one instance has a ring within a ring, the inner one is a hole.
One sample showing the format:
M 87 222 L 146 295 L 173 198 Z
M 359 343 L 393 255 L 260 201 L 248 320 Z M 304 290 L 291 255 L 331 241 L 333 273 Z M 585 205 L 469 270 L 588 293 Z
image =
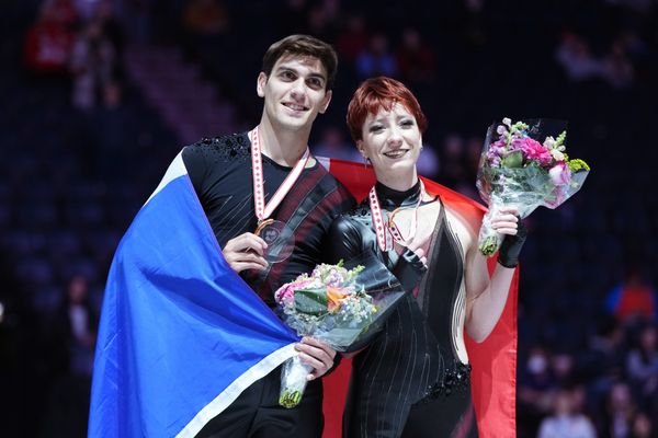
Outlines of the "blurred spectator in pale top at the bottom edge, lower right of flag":
M 580 412 L 571 390 L 555 395 L 554 414 L 542 420 L 537 438 L 595 438 L 592 422 Z

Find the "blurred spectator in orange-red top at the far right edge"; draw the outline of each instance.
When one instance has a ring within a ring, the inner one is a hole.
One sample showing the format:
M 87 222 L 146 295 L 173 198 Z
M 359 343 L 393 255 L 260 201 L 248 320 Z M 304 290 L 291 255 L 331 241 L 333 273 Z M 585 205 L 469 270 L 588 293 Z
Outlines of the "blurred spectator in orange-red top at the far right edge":
M 624 280 L 608 293 L 606 307 L 620 321 L 657 321 L 656 297 L 656 289 L 646 281 L 642 269 L 631 266 Z

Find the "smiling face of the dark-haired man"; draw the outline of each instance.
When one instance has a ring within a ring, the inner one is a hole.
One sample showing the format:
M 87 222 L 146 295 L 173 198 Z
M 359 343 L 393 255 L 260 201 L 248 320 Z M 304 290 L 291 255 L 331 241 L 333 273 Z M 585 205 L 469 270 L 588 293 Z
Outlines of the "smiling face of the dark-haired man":
M 264 97 L 264 115 L 272 126 L 291 130 L 310 130 L 318 113 L 329 106 L 327 72 L 319 59 L 284 55 L 270 76 L 258 77 L 258 95 Z

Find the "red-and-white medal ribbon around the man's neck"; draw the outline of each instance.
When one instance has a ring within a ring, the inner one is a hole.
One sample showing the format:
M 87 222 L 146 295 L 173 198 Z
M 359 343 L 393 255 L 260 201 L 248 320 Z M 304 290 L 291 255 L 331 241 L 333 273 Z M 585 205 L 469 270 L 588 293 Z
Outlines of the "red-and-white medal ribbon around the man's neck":
M 279 207 L 285 195 L 291 191 L 302 171 L 308 162 L 310 152 L 308 148 L 297 161 L 291 173 L 285 177 L 281 186 L 274 193 L 274 196 L 265 204 L 265 189 L 263 187 L 263 160 L 261 157 L 260 137 L 258 126 L 249 131 L 249 140 L 251 141 L 251 170 L 253 176 L 253 207 L 259 224 L 268 219 L 270 215 Z

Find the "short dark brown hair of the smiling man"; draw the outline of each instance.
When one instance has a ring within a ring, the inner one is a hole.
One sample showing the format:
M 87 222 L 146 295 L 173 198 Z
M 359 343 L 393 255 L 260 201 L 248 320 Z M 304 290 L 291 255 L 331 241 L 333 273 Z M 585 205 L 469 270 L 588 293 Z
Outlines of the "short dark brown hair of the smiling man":
M 265 51 L 261 71 L 269 77 L 279 58 L 284 55 L 310 56 L 319 59 L 327 71 L 327 85 L 325 89 L 331 90 L 338 67 L 338 56 L 329 44 L 310 35 L 286 36 L 272 44 Z

